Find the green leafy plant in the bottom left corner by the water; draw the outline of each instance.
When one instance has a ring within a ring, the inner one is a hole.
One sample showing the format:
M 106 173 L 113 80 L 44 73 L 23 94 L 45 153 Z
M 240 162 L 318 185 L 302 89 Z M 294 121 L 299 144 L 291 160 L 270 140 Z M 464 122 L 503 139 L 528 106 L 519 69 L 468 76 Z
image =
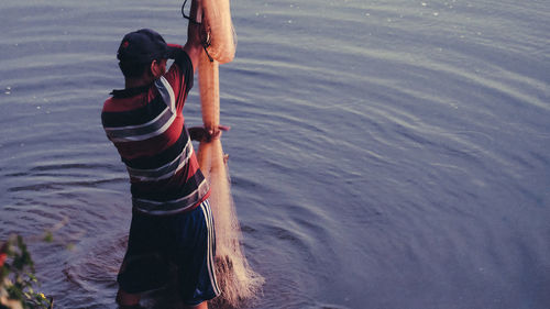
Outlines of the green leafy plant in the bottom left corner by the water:
M 12 235 L 0 246 L 0 309 L 53 308 L 53 300 L 35 290 L 40 286 L 23 238 Z

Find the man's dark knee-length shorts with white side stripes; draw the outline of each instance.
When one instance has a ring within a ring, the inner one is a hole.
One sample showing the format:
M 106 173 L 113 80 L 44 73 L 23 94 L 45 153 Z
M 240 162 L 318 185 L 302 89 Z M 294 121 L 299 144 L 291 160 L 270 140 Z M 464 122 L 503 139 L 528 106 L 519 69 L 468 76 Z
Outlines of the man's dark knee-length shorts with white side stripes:
M 174 216 L 132 214 L 128 250 L 117 278 L 130 294 L 157 289 L 177 269 L 182 300 L 198 305 L 220 294 L 213 257 L 216 236 L 208 200 Z

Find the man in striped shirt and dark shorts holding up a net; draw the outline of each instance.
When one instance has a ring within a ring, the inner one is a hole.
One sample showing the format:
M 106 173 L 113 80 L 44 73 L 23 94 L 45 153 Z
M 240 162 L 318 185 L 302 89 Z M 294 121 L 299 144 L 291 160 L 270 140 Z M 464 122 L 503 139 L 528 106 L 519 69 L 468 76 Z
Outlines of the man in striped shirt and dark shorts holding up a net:
M 123 37 L 117 57 L 125 88 L 112 91 L 101 113 L 132 192 L 130 238 L 118 275 L 120 308 L 140 308 L 140 294 L 166 284 L 169 264 L 189 308 L 207 308 L 220 294 L 210 191 L 191 144 L 218 139 L 220 131 L 187 130 L 182 114 L 202 48 L 196 1 L 190 12 L 194 22 L 183 47 L 147 29 Z M 166 71 L 168 58 L 174 64 Z

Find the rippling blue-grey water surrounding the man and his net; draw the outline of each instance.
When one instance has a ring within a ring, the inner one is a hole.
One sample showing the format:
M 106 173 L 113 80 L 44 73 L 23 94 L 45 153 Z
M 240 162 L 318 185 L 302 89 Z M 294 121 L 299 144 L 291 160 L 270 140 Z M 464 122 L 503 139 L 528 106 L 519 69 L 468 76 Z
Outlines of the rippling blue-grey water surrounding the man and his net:
M 57 308 L 116 308 L 127 174 L 100 124 L 122 35 L 174 1 L 0 4 L 0 236 Z M 220 68 L 250 308 L 550 307 L 548 1 L 232 2 Z M 184 113 L 200 124 L 198 91 Z M 158 307 L 158 306 L 157 306 Z

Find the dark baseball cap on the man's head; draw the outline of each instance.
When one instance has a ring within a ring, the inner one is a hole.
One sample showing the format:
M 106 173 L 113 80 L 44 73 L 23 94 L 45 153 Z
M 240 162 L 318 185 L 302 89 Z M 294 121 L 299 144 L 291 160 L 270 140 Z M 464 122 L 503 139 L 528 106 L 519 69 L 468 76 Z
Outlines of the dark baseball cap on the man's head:
M 150 63 L 154 59 L 170 58 L 172 48 L 157 32 L 141 29 L 124 35 L 117 58 L 121 62 Z

